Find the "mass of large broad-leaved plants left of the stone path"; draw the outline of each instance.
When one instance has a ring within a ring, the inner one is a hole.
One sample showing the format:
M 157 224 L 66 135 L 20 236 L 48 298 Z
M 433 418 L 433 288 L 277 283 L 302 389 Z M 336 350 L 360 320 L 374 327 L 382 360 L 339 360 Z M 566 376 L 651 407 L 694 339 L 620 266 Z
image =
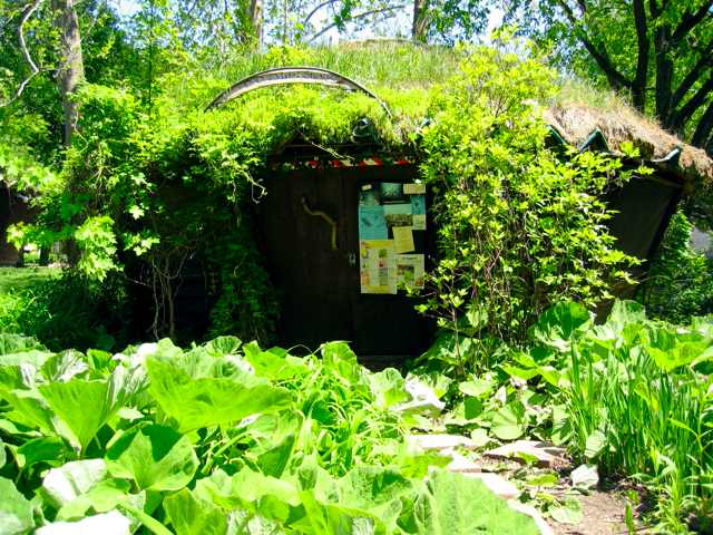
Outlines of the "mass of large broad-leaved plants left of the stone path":
M 433 406 L 344 343 L 218 338 L 51 353 L 0 337 L 2 533 L 537 533 L 480 481 L 410 453 Z

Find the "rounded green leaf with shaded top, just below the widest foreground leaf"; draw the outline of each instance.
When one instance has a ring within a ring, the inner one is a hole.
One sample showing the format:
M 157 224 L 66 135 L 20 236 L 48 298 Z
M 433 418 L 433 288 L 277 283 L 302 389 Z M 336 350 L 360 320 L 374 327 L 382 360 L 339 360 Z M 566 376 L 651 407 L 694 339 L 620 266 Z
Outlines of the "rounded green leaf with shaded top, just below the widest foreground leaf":
M 131 478 L 138 488 L 152 490 L 178 490 L 198 469 L 188 437 L 157 425 L 135 427 L 113 440 L 106 461 L 113 476 Z

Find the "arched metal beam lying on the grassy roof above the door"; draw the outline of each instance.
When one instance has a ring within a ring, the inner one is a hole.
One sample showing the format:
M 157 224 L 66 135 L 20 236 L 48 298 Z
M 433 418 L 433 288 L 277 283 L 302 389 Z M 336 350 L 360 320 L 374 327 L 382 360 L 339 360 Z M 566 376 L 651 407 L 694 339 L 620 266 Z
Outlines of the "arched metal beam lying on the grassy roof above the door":
M 360 91 L 377 100 L 387 115 L 391 117 L 391 110 L 385 103 L 364 86 L 332 70 L 316 67 L 279 67 L 276 69 L 256 72 L 247 78 L 243 78 L 229 89 L 226 89 L 215 97 L 215 100 L 213 100 L 205 110 L 208 111 L 218 108 L 254 89 L 283 84 L 319 84 L 328 87 L 336 87 L 346 91 Z

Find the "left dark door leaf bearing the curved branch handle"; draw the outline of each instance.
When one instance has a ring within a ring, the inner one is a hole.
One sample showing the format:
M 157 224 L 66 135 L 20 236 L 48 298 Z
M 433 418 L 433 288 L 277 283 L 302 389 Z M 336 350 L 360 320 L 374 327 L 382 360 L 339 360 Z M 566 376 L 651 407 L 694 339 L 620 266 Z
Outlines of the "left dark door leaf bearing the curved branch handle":
M 340 174 L 332 169 L 281 173 L 268 177 L 265 187 L 261 221 L 270 269 L 281 293 L 280 342 L 313 350 L 326 340 L 352 340 Z M 311 213 L 322 213 L 335 225 Z

